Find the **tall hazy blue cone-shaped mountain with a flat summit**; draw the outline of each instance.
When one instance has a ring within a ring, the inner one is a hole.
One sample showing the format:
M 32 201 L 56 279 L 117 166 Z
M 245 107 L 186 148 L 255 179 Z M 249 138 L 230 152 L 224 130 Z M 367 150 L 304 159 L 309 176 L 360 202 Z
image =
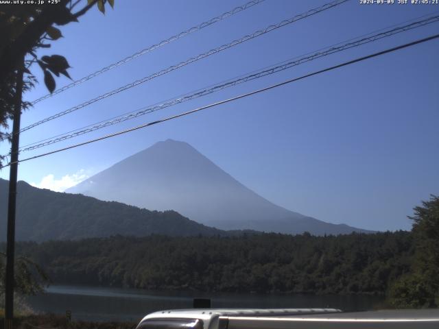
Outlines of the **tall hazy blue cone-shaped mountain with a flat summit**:
M 223 230 L 366 232 L 276 206 L 188 143 L 171 139 L 114 164 L 66 192 L 151 210 L 176 210 L 193 221 Z

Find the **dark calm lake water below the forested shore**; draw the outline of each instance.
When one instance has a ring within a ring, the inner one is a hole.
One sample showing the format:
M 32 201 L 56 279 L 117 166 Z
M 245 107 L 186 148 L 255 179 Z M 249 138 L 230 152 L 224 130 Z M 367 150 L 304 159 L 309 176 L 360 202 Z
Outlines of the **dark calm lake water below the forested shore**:
M 139 321 L 148 313 L 192 308 L 194 297 L 211 298 L 213 308 L 340 308 L 370 310 L 383 297 L 369 295 L 280 295 L 256 293 L 195 293 L 102 287 L 52 285 L 27 298 L 36 312 L 65 314 L 89 321 Z

